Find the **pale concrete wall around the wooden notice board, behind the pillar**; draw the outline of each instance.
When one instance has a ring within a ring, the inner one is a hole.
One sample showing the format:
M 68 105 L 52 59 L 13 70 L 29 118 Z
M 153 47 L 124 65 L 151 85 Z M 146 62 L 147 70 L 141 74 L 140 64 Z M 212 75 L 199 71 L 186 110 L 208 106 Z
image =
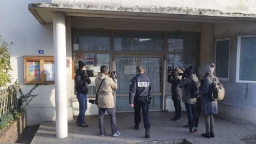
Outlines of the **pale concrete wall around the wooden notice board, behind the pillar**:
M 12 82 L 15 79 L 21 84 L 24 93 L 27 93 L 33 85 L 23 84 L 23 56 L 53 56 L 53 26 L 52 24 L 41 25 L 39 21 L 28 11 L 28 4 L 40 1 L 1 1 L 0 5 L 0 35 L 10 43 L 11 66 L 13 71 Z M 71 59 L 71 26 L 69 22 L 69 34 L 67 34 L 67 58 Z M 39 55 L 38 50 L 44 50 Z M 71 68 L 67 68 L 68 85 L 71 81 Z M 68 117 L 72 119 L 72 87 L 68 86 Z M 55 120 L 55 85 L 41 85 L 33 94 L 38 94 L 25 108 L 27 124 L 39 124 L 41 121 Z

